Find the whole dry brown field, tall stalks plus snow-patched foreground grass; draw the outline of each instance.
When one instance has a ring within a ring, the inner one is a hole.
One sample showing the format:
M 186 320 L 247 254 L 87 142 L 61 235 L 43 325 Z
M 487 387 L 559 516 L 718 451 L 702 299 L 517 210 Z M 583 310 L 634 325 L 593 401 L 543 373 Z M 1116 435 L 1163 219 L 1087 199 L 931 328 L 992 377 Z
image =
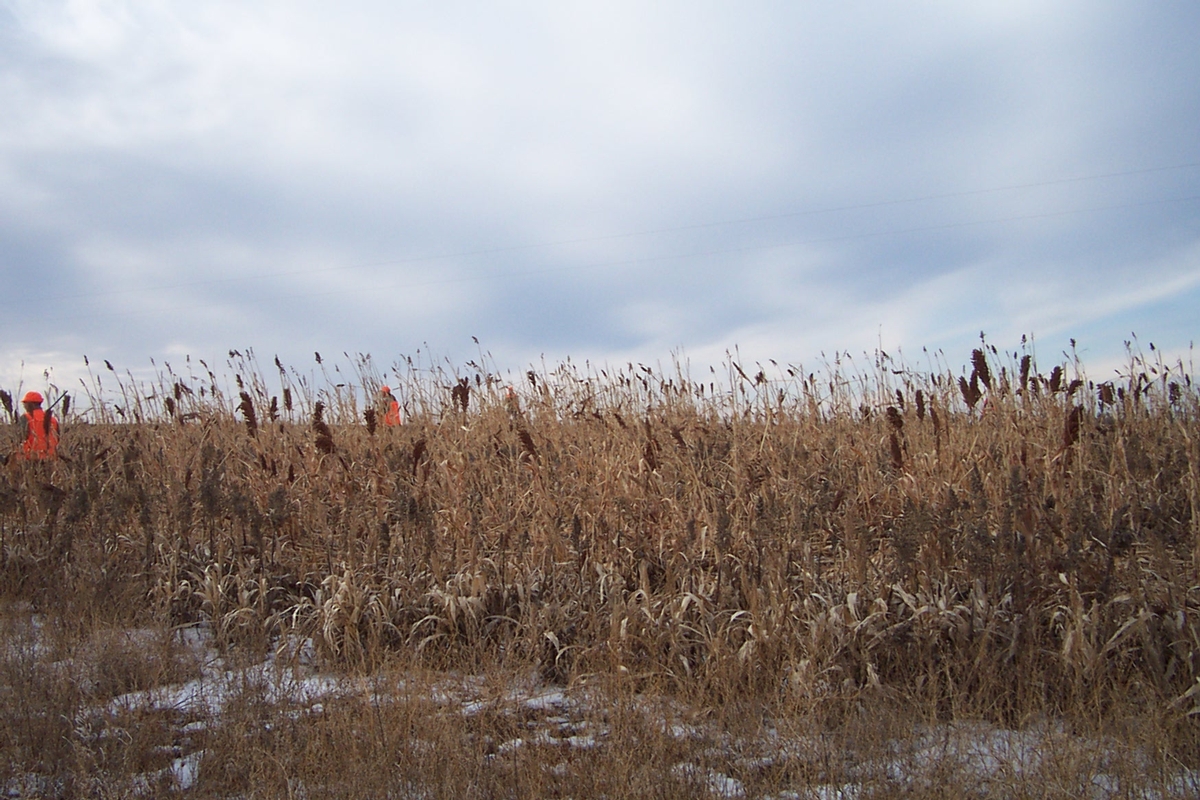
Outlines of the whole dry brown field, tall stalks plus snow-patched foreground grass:
M 11 796 L 1200 792 L 1183 365 L 185 366 L 0 477 Z

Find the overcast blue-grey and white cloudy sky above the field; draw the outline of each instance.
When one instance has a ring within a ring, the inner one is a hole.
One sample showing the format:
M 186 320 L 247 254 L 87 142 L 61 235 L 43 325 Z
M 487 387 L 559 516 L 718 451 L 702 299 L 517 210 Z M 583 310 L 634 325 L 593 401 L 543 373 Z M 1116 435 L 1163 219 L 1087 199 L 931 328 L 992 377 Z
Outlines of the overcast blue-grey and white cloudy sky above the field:
M 0 0 L 0 385 L 1187 357 L 1198 42 L 1195 2 Z

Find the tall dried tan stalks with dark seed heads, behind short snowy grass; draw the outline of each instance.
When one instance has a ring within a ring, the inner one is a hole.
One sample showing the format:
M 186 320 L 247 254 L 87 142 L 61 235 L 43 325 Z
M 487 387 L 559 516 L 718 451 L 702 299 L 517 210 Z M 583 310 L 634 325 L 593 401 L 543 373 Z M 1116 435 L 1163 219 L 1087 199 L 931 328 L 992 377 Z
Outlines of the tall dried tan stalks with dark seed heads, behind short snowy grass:
M 1135 702 L 1196 744 L 1190 373 L 869 361 L 511 380 L 408 359 L 400 428 L 361 421 L 366 356 L 268 378 L 232 351 L 234 389 L 203 361 L 109 366 L 65 458 L 0 479 L 5 591 L 208 620 L 228 646 L 299 632 L 348 668 L 404 651 L 1001 722 Z

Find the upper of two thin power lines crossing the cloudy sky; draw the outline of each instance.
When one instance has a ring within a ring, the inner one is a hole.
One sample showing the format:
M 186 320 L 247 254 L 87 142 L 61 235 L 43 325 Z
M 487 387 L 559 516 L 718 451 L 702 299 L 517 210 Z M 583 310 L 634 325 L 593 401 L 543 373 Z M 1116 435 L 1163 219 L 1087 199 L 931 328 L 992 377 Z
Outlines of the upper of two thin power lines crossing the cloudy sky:
M 286 271 L 277 271 L 277 272 L 262 272 L 262 273 L 258 273 L 258 275 L 239 275 L 239 276 L 222 277 L 222 278 L 203 278 L 203 279 L 198 279 L 198 281 L 185 281 L 185 282 L 181 282 L 181 283 L 158 284 L 158 285 L 152 285 L 152 287 L 138 287 L 138 288 L 130 288 L 130 289 L 109 289 L 109 290 L 102 290 L 102 291 L 86 291 L 86 293 L 76 293 L 76 294 L 42 295 L 41 297 L 38 297 L 38 300 L 40 301 L 50 301 L 50 302 L 53 302 L 53 301 L 60 301 L 60 300 L 76 300 L 76 299 L 79 299 L 79 297 L 104 297 L 104 296 L 114 296 L 114 295 L 122 295 L 122 294 L 131 294 L 131 293 L 166 291 L 166 290 L 169 290 L 169 289 L 187 289 L 187 288 L 202 287 L 202 285 L 216 285 L 216 284 L 221 284 L 221 283 L 233 283 L 233 282 L 238 282 L 238 281 L 262 281 L 262 279 L 269 279 L 269 278 L 287 278 L 287 277 L 300 277 L 300 276 L 307 276 L 307 275 L 323 275 L 323 273 L 328 273 L 328 272 L 346 272 L 346 271 L 354 271 L 354 270 L 374 269 L 374 267 L 379 267 L 379 266 L 406 266 L 406 265 L 413 265 L 413 264 L 431 264 L 431 263 L 434 263 L 434 261 L 443 261 L 443 260 L 450 260 L 450 259 L 479 258 L 481 255 L 497 255 L 497 254 L 500 254 L 500 253 L 514 253 L 514 252 L 523 252 L 523 251 L 533 251 L 533 249 L 545 249 L 545 248 L 551 248 L 551 247 L 564 247 L 564 246 L 569 246 L 569 245 L 586 245 L 586 243 L 594 243 L 594 242 L 601 242 L 601 241 L 616 241 L 616 240 L 622 240 L 622 239 L 636 239 L 636 237 L 640 237 L 640 236 L 658 236 L 658 235 L 662 235 L 662 234 L 684 233 L 684 231 L 689 231 L 689 230 L 704 230 L 704 229 L 722 228 L 722 227 L 730 227 L 730 225 L 752 224 L 752 223 L 757 223 L 757 222 L 774 222 L 774 221 L 779 221 L 779 219 L 794 219 L 794 218 L 800 218 L 800 217 L 820 216 L 820 215 L 824 215 L 824 213 L 838 213 L 838 212 L 844 212 L 844 211 L 862 211 L 862 210 L 868 210 L 868 209 L 880 209 L 880 207 L 887 207 L 887 206 L 907 205 L 907 204 L 913 204 L 913 203 L 926 203 L 926 201 L 931 201 L 931 200 L 947 200 L 947 199 L 965 198 L 965 197 L 977 197 L 977 196 L 982 196 L 982 194 L 996 194 L 996 193 L 1000 193 L 1000 192 L 1012 192 L 1012 191 L 1027 190 L 1027 188 L 1042 188 L 1042 187 L 1046 187 L 1046 186 L 1062 186 L 1062 185 L 1067 185 L 1067 184 L 1080 184 L 1080 182 L 1086 182 L 1086 181 L 1098 181 L 1098 180 L 1106 180 L 1106 179 L 1111 179 L 1111 178 L 1127 178 L 1127 176 L 1132 176 L 1132 175 L 1148 175 L 1148 174 L 1153 174 L 1153 173 L 1164 173 L 1164 172 L 1174 172 L 1174 170 L 1182 170 L 1182 169 L 1193 169 L 1193 168 L 1198 168 L 1198 167 L 1200 167 L 1200 162 L 1187 162 L 1187 163 L 1182 163 L 1182 164 L 1171 164 L 1171 166 L 1166 166 L 1166 167 L 1148 167 L 1146 169 L 1130 169 L 1130 170 L 1115 172 L 1115 173 L 1097 173 L 1097 174 L 1093 174 L 1093 175 L 1081 175 L 1081 176 L 1076 176 L 1076 178 L 1062 178 L 1062 179 L 1049 180 L 1049 181 L 1038 181 L 1038 182 L 1033 182 L 1033 184 L 1012 184 L 1012 185 L 1007 185 L 1007 186 L 996 186 L 996 187 L 990 187 L 990 188 L 966 190 L 966 191 L 961 191 L 961 192 L 946 192 L 946 193 L 938 193 L 938 194 L 924 194 L 924 196 L 916 196 L 916 197 L 892 199 L 892 200 L 877 200 L 877 201 L 871 201 L 871 203 L 857 203 L 857 204 L 851 204 L 851 205 L 828 206 L 828 207 L 823 207 L 823 209 L 810 209 L 810 210 L 804 210 L 804 211 L 788 211 L 788 212 L 784 212 L 784 213 L 773 213 L 773 215 L 764 215 L 764 216 L 757 216 L 757 217 L 742 217 L 742 218 L 736 218 L 736 219 L 722 219 L 722 221 L 716 221 L 716 222 L 702 222 L 702 223 L 695 223 L 695 224 L 689 224 L 689 225 L 676 225 L 676 227 L 653 228 L 653 229 L 629 231 L 629 233 L 619 233 L 619 234 L 606 234 L 606 235 L 602 235 L 602 236 L 586 236 L 586 237 L 577 237 L 577 239 L 560 239 L 560 240 L 551 240 L 551 241 L 545 241 L 545 242 L 532 242 L 532 243 L 527 243 L 527 245 L 509 245 L 509 246 L 503 246 L 503 247 L 486 247 L 486 248 L 479 248 L 479 249 L 472 249 L 472 251 L 457 251 L 457 252 L 443 253 L 443 254 L 438 254 L 438 255 L 414 255 L 414 257 L 410 257 L 410 258 L 389 259 L 389 260 L 383 260 L 383 261 L 365 261 L 365 263 L 360 263 L 360 264 L 350 264 L 350 265 L 341 265 L 341 266 L 325 266 L 325 267 L 318 267 L 318 269 L 311 269 L 311 270 L 286 270 Z M 1184 198 L 1184 199 L 1187 199 L 1187 198 Z M 1133 205 L 1138 205 L 1138 204 L 1133 204 Z M 1114 207 L 1117 207 L 1117 206 L 1114 206 Z M 1121 206 L 1121 207 L 1123 207 L 1123 206 Z M 1074 211 L 1068 211 L 1066 213 L 1075 213 L 1075 212 Z M 1050 216 L 1052 216 L 1052 215 L 1050 215 Z M 1033 217 L 1030 217 L 1030 218 L 1033 218 Z M 973 223 L 967 223 L 967 224 L 973 224 Z M 936 230 L 936 229 L 938 229 L 938 228 L 937 227 L 930 228 L 930 230 Z M 918 229 L 913 229 L 912 231 L 908 231 L 908 233 L 916 233 L 917 230 Z M 872 236 L 872 235 L 876 235 L 876 234 L 865 234 L 864 236 Z M 887 235 L 887 234 L 878 234 L 878 235 Z M 835 239 L 830 239 L 828 241 L 841 241 L 841 240 L 844 240 L 844 237 L 835 237 Z M 815 243 L 815 242 L 810 242 L 810 243 Z M 731 251 L 731 252 L 736 252 L 736 251 Z M 665 257 L 665 258 L 673 258 L 673 257 Z M 587 269 L 587 267 L 583 267 L 583 269 Z M 29 302 L 29 299 L 26 297 L 26 299 L 22 300 L 19 305 L 26 305 L 28 302 Z M 16 301 L 0 302 L 0 307 L 5 307 L 5 306 L 12 307 L 12 306 L 16 306 L 16 305 L 18 305 Z

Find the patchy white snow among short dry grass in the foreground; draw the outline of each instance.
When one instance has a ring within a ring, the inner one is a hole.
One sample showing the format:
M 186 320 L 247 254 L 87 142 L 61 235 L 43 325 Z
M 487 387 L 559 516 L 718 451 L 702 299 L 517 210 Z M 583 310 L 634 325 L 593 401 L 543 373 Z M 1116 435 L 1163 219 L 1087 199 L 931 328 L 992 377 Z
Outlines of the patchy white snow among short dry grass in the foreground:
M 35 624 L 32 639 L 22 646 L 31 646 L 30 652 L 44 655 L 43 650 L 38 650 L 41 645 L 36 632 Z M 205 627 L 185 628 L 178 636 L 200 664 L 196 678 L 121 694 L 102 706 L 85 709 L 74 722 L 79 735 L 85 738 L 103 729 L 101 723 L 104 720 L 119 716 L 157 714 L 175 721 L 175 744 L 166 753 L 169 757 L 168 765 L 137 775 L 128 787 L 132 795 L 154 796 L 164 782 L 185 794 L 196 786 L 205 758 L 203 746 L 197 744 L 203 741 L 200 734 L 210 727 L 220 726 L 229 704 L 247 688 L 252 688 L 265 703 L 296 716 L 320 715 L 326 704 L 340 698 L 365 697 L 371 703 L 385 704 L 396 702 L 406 693 L 410 696 L 413 691 L 426 692 L 430 703 L 448 714 L 468 717 L 485 714 L 518 715 L 521 724 L 512 729 L 520 729 L 520 735 L 494 742 L 486 758 L 504 759 L 516 751 L 533 747 L 546 748 L 542 752 L 564 753 L 563 764 L 550 764 L 546 768 L 551 771 L 565 772 L 565 759 L 572 751 L 604 747 L 610 735 L 607 726 L 598 722 L 604 718 L 602 714 L 598 714 L 598 708 L 602 706 L 605 699 L 589 687 L 562 688 L 539 684 L 529 678 L 515 682 L 505 693 L 497 696 L 494 691 L 486 690 L 481 678 L 470 675 L 448 675 L 438 681 L 421 681 L 419 685 L 414 681 L 408 686 L 396 679 L 385 682 L 371 678 L 335 676 L 322 673 L 316 667 L 312 643 L 307 640 L 286 640 L 262 662 L 234 667 L 214 646 Z M 646 698 L 641 708 L 646 715 L 658 717 L 667 735 L 692 745 L 686 748 L 690 756 L 672 765 L 670 772 L 674 780 L 691 786 L 697 796 L 751 796 L 745 783 L 734 775 L 769 768 L 788 759 L 803 759 L 826 746 L 820 736 L 790 735 L 772 729 L 760 732 L 754 740 L 748 740 L 722 730 L 716 723 L 706 721 L 703 715 L 689 715 L 677 704 L 661 699 Z M 931 776 L 944 778 L 947 775 L 979 787 L 984 793 L 990 787 L 995 789 L 992 794 L 1002 795 L 1006 786 L 1019 786 L 1022 781 L 1036 784 L 1038 776 L 1052 764 L 1060 750 L 1092 753 L 1091 763 L 1096 766 L 1087 796 L 1094 800 L 1200 796 L 1200 772 L 1195 770 L 1180 769 L 1166 780 L 1158 781 L 1157 786 L 1160 788 L 1153 790 L 1133 790 L 1124 786 L 1118 775 L 1128 774 L 1128 770 L 1110 774 L 1105 769 L 1108 754 L 1115 747 L 1114 742 L 1080 740 L 1051 724 L 1026 730 L 1006 730 L 985 723 L 920 727 L 913 729 L 907 738 L 889 741 L 882 748 L 884 757 L 876 754 L 840 769 L 839 774 L 844 780 L 809 784 L 773 796 L 780 800 L 854 799 L 871 795 L 871 787 L 881 784 L 905 787 L 919 794 L 923 782 L 931 780 Z M 725 766 L 718 769 L 714 764 Z M 1045 770 L 1045 774 L 1054 774 L 1054 770 Z M 1055 794 L 1052 787 L 1046 788 L 1049 794 Z M 44 789 L 36 776 L 28 775 L 8 780 L 4 786 L 4 794 L 18 798 L 42 794 Z M 425 798 L 428 793 L 413 786 L 408 796 Z M 1067 792 L 1063 796 L 1076 795 Z

